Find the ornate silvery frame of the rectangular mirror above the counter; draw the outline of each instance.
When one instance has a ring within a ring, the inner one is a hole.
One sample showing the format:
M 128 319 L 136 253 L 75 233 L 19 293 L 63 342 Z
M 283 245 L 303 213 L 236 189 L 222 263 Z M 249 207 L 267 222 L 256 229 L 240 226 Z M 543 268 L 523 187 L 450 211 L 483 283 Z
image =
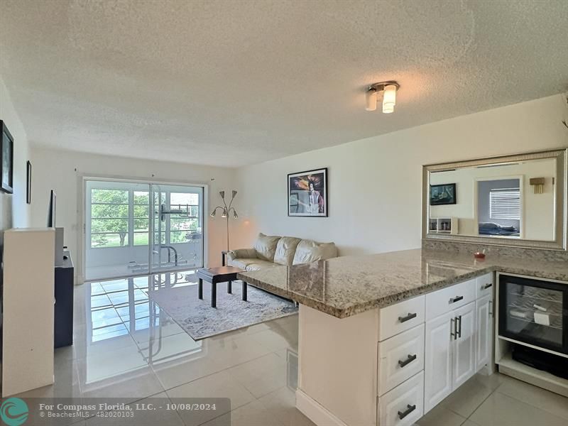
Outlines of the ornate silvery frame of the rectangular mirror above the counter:
M 540 160 L 543 158 L 556 158 L 557 174 L 556 185 L 556 212 L 555 212 L 555 241 L 539 241 L 529 239 L 510 239 L 502 237 L 486 237 L 474 235 L 455 234 L 429 234 L 428 224 L 430 216 L 430 172 L 441 172 L 475 165 L 493 165 L 526 160 Z M 491 246 L 515 246 L 532 249 L 567 249 L 568 227 L 568 148 L 559 148 L 549 151 L 537 151 L 514 155 L 499 155 L 496 157 L 478 158 L 453 163 L 439 163 L 422 166 L 422 239 L 445 240 L 452 242 L 486 244 Z

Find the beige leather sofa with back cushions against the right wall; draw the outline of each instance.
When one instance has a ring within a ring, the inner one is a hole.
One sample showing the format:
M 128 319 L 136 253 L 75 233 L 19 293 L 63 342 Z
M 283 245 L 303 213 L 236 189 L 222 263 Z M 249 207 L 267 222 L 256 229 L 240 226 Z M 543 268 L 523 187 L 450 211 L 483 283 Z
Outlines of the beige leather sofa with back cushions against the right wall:
M 337 257 L 334 243 L 258 234 L 252 249 L 229 251 L 227 264 L 246 271 L 258 271 L 275 265 L 300 265 L 334 257 Z

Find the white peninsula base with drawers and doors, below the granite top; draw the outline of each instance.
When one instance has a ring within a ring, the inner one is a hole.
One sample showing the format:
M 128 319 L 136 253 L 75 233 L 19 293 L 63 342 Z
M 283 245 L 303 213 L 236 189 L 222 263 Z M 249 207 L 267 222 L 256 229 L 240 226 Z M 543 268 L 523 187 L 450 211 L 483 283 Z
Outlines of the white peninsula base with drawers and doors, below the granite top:
M 491 372 L 493 289 L 490 273 L 343 319 L 300 305 L 297 409 L 318 426 L 412 425 Z

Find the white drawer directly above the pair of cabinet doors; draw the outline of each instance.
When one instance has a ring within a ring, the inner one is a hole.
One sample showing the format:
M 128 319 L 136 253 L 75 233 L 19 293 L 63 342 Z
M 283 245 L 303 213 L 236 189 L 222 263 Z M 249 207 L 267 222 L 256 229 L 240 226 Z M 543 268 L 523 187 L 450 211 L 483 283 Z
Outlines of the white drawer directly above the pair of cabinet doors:
M 475 300 L 475 278 L 426 295 L 426 320 L 432 320 Z

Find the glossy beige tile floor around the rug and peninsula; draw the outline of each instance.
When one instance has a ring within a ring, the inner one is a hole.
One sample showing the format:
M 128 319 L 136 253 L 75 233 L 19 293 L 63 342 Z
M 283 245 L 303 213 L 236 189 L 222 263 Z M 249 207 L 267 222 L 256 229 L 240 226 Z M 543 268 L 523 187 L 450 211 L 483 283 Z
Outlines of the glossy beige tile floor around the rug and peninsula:
M 55 384 L 18 396 L 230 398 L 232 426 L 313 425 L 295 408 L 297 315 L 195 342 L 146 295 L 148 285 L 191 281 L 171 273 L 75 287 L 75 344 L 55 351 Z M 226 426 L 226 416 L 195 422 L 173 412 L 155 424 Z M 568 398 L 476 375 L 417 424 L 567 425 Z

